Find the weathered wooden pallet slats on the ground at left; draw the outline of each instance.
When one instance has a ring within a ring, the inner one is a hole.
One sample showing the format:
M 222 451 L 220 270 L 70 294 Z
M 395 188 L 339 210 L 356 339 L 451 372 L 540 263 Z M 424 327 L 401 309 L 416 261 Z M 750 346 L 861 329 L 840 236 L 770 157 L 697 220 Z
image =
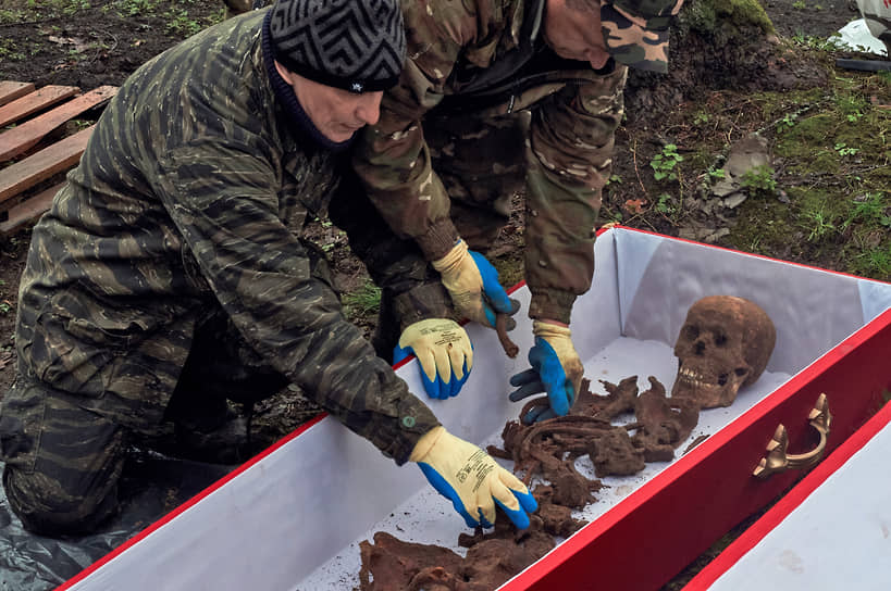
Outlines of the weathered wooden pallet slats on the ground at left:
M 53 133 L 116 91 L 114 86 L 89 92 L 72 86 L 37 89 L 30 83 L 0 80 L 0 235 L 49 209 L 62 184 L 35 187 L 77 165 L 94 126 L 54 141 Z

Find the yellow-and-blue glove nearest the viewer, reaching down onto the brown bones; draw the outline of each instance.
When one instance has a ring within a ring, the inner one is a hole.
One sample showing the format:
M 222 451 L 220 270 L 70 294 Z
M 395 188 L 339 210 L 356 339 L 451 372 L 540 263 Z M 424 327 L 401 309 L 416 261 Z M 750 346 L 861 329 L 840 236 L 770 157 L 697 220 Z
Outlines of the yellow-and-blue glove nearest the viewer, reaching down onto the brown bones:
M 468 527 L 493 527 L 497 503 L 519 529 L 529 527 L 529 513 L 539 504 L 519 478 L 477 445 L 437 426 L 414 445 L 417 462 L 436 491 L 451 501 Z

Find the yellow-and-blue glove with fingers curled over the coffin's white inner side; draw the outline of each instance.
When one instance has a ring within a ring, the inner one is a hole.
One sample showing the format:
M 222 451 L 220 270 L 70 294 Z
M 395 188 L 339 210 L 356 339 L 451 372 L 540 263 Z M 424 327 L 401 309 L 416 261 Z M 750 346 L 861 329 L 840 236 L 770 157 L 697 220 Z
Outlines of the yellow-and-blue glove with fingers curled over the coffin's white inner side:
M 457 395 L 473 367 L 473 347 L 467 331 L 449 318 L 419 320 L 403 330 L 393 363 L 418 357 L 421 380 L 430 398 Z

